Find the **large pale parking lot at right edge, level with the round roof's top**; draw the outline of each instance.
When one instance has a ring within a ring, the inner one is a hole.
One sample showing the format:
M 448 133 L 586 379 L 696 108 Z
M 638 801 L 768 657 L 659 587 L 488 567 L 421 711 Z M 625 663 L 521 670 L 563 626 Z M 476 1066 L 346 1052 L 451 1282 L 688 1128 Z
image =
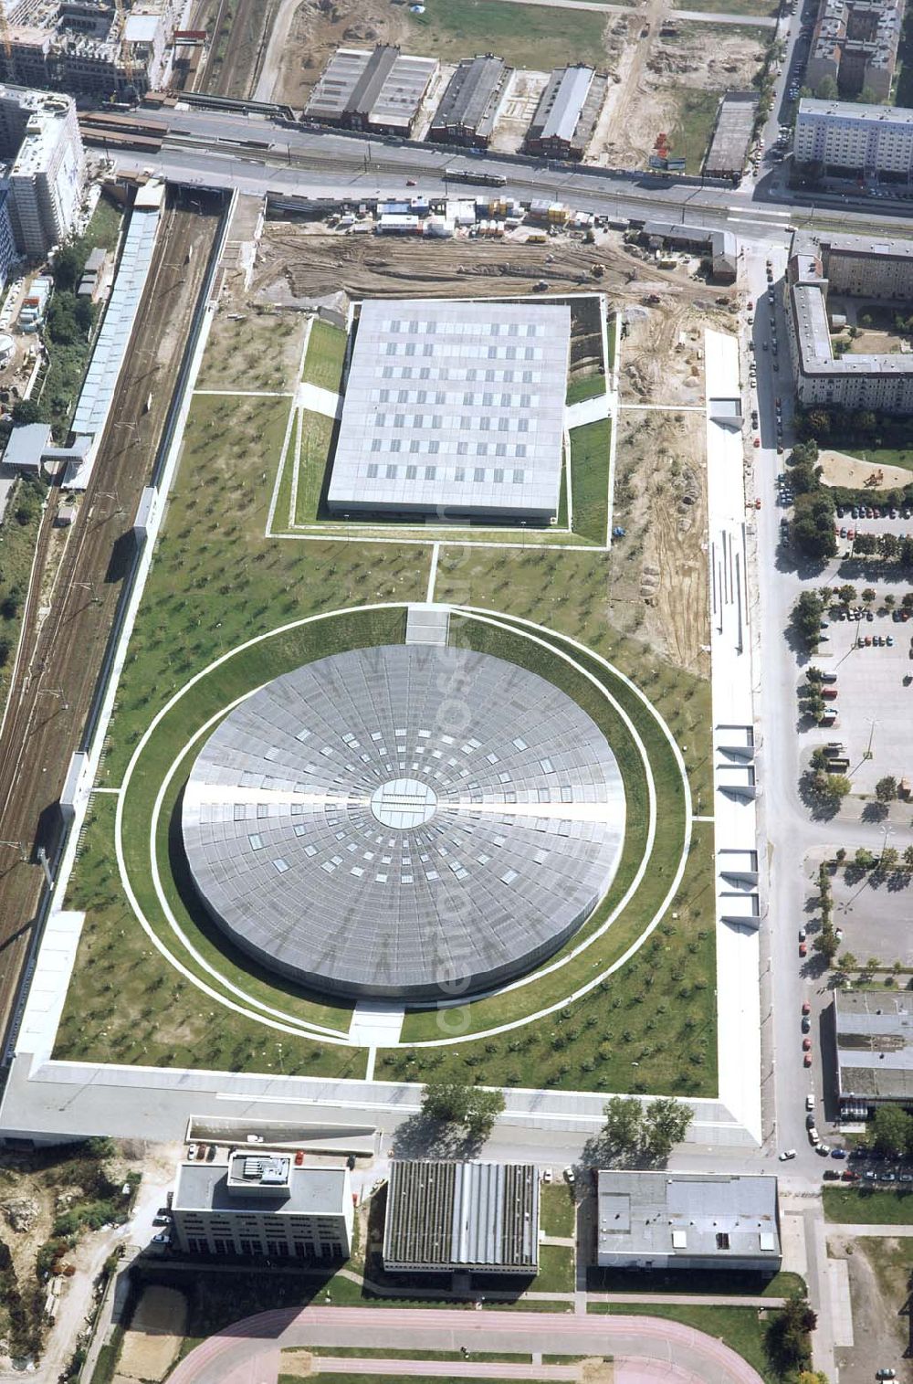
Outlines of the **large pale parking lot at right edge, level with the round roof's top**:
M 822 631 L 815 663 L 824 673 L 837 673 L 834 725 L 813 731 L 809 750 L 829 740 L 847 746 L 849 778 L 855 793 L 874 793 L 878 779 L 892 774 L 913 783 L 913 620 L 898 621 L 891 614 L 872 612 L 860 620 L 840 620 L 831 614 Z M 870 645 L 856 645 L 870 639 Z M 891 641 L 888 644 L 887 641 Z

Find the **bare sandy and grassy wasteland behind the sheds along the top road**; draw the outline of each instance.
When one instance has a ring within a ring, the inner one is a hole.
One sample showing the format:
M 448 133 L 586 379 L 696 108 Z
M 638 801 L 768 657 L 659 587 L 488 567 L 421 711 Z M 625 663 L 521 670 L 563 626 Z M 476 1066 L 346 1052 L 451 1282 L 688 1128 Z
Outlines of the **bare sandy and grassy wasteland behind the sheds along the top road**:
M 227 0 L 223 0 L 225 4 Z M 245 3 L 241 0 L 239 17 Z M 491 148 L 516 152 L 541 95 L 548 72 L 563 62 L 584 62 L 609 73 L 609 94 L 587 151 L 587 162 L 613 167 L 646 167 L 665 136 L 670 155 L 700 172 L 719 100 L 725 91 L 750 90 L 773 30 L 744 25 L 668 17 L 661 0 L 632 8 L 606 7 L 574 15 L 559 33 L 548 7 L 488 0 L 458 0 L 416 17 L 393 0 L 285 0 L 277 7 L 275 33 L 257 60 L 256 94 L 300 109 L 338 47 L 368 48 L 378 43 L 441 62 L 440 86 L 455 60 L 494 51 L 515 68 L 495 120 Z M 730 17 L 728 17 L 730 18 Z M 241 24 L 241 18 L 235 21 Z M 253 53 L 248 29 L 245 43 Z M 219 44 L 216 43 L 216 48 Z M 217 54 L 206 60 L 209 76 L 201 90 L 241 94 L 224 76 L 214 80 Z M 234 61 L 234 57 L 232 57 Z M 253 90 L 253 87 L 252 87 Z

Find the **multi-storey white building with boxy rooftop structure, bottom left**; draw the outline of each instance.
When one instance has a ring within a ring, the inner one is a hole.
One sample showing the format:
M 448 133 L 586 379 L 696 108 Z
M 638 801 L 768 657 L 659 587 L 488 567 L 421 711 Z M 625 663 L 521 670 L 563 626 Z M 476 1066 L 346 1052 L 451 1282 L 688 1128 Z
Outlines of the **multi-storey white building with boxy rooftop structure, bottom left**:
M 347 1259 L 354 1208 L 347 1168 L 308 1167 L 292 1153 L 232 1150 L 228 1163 L 183 1163 L 172 1201 L 184 1254 Z

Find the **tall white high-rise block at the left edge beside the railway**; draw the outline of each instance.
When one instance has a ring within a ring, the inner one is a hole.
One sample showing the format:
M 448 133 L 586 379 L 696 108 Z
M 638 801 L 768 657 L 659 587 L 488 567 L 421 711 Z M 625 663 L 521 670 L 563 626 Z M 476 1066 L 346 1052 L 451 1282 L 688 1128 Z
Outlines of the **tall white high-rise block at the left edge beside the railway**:
M 86 179 L 86 156 L 71 97 L 0 86 L 0 156 L 10 221 L 21 255 L 43 259 L 71 234 Z

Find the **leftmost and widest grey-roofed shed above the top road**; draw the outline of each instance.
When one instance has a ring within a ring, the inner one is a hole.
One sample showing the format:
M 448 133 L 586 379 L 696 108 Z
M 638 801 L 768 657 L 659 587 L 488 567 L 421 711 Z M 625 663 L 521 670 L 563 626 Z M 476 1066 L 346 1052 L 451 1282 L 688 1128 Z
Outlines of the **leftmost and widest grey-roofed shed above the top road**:
M 408 137 L 436 76 L 436 58 L 409 57 L 389 44 L 336 48 L 304 108 L 304 119 Z

